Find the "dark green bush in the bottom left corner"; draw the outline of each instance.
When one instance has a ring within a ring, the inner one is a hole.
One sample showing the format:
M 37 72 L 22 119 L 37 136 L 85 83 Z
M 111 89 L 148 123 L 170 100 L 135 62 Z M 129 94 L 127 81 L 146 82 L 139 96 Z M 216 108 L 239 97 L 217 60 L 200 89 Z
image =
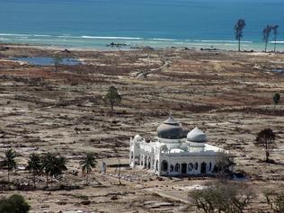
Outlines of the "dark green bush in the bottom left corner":
M 19 194 L 13 194 L 8 199 L 0 200 L 0 213 L 27 213 L 30 208 L 30 205 Z

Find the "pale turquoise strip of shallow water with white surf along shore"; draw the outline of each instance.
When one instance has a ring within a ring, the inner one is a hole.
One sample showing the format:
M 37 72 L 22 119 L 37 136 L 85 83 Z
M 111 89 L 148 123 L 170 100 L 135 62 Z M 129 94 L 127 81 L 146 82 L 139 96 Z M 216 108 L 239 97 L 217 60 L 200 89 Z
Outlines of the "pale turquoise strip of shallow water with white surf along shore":
M 35 39 L 36 38 L 36 39 Z M 129 50 L 129 49 L 237 49 L 236 40 L 179 40 L 164 38 L 131 38 L 131 37 L 102 37 L 102 36 L 71 36 L 71 35 L 33 35 L 33 34 L 0 34 L 0 44 L 34 46 L 44 49 L 74 49 L 74 50 Z M 273 50 L 274 42 L 268 44 L 268 52 Z M 243 51 L 262 52 L 264 43 L 242 40 Z M 277 41 L 277 50 L 284 51 L 284 43 Z

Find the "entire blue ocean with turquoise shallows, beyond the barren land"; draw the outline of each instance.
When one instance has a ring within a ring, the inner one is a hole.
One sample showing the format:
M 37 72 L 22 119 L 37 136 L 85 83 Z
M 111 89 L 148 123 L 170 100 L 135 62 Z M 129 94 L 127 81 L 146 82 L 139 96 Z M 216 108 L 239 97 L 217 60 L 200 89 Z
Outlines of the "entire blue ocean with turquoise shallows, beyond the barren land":
M 0 0 L 0 41 L 236 49 L 234 24 L 244 18 L 243 49 L 263 49 L 263 27 L 278 24 L 284 50 L 283 11 L 283 0 Z

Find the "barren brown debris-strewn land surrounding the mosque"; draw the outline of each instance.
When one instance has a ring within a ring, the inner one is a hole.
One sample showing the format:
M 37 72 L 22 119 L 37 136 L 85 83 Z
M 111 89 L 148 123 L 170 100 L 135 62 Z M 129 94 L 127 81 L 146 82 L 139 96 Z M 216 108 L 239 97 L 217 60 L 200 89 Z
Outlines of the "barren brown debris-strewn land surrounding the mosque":
M 5 191 L 6 172 L 1 171 L 1 195 L 19 192 L 31 203 L 31 212 L 182 212 L 188 209 L 189 191 L 212 178 L 162 178 L 146 170 L 123 169 L 123 186 L 111 176 L 118 160 L 128 164 L 129 138 L 140 134 L 155 138 L 155 129 L 169 111 L 182 126 L 199 126 L 209 143 L 235 155 L 235 169 L 248 174 L 256 191 L 248 212 L 267 209 L 261 191 L 279 190 L 284 180 L 284 102 L 274 106 L 273 94 L 284 95 L 284 76 L 272 69 L 284 68 L 284 54 L 235 53 L 189 49 L 140 49 L 131 51 L 75 51 L 9 46 L 0 52 L 0 155 L 6 148 L 18 153 L 18 182 L 32 183 L 22 169 L 32 152 L 65 155 L 68 171 L 63 177 L 69 190 L 44 191 L 40 176 L 37 191 Z M 31 66 L 7 60 L 10 57 L 49 57 L 59 54 L 80 58 L 85 65 Z M 161 70 L 148 72 L 162 67 Z M 139 74 L 140 78 L 137 78 Z M 122 102 L 110 107 L 103 101 L 108 87 L 118 88 Z M 282 96 L 283 96 L 282 95 Z M 277 148 L 265 164 L 262 149 L 253 145 L 257 132 L 271 128 L 277 134 Z M 98 153 L 108 164 L 99 164 L 90 186 L 84 186 L 79 161 L 86 151 Z M 72 172 L 77 171 L 77 176 Z M 56 189 L 58 182 L 51 188 Z M 72 187 L 71 187 L 72 186 Z M 22 187 L 29 188 L 29 187 Z M 195 212 L 194 209 L 188 209 Z

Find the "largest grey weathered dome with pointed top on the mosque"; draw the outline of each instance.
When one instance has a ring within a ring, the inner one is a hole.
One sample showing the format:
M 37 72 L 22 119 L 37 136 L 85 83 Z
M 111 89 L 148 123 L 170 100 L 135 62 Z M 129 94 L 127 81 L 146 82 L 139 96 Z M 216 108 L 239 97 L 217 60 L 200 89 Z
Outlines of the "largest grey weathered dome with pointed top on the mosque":
M 165 139 L 180 139 L 182 138 L 183 130 L 178 122 L 173 120 L 170 116 L 167 120 L 157 128 L 157 135 L 159 138 Z

